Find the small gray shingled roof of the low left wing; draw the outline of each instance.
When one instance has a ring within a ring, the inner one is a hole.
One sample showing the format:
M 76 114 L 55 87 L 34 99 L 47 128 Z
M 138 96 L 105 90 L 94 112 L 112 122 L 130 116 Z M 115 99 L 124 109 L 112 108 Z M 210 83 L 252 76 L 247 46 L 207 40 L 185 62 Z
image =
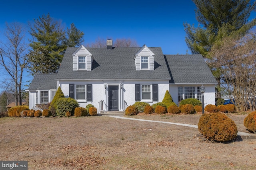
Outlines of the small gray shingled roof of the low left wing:
M 57 89 L 57 74 L 35 74 L 27 90 Z

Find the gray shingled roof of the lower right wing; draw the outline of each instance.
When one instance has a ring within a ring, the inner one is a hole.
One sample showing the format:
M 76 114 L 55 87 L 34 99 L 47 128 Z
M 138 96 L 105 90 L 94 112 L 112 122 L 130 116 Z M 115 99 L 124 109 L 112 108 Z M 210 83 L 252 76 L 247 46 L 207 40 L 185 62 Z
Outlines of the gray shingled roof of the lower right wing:
M 165 55 L 176 84 L 217 84 L 202 55 Z

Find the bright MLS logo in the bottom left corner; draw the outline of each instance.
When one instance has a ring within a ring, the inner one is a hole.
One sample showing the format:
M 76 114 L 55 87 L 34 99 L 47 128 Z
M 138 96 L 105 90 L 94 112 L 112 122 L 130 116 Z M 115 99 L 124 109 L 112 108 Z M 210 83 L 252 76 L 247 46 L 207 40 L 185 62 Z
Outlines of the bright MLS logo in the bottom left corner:
M 28 161 L 0 161 L 0 170 L 28 170 Z

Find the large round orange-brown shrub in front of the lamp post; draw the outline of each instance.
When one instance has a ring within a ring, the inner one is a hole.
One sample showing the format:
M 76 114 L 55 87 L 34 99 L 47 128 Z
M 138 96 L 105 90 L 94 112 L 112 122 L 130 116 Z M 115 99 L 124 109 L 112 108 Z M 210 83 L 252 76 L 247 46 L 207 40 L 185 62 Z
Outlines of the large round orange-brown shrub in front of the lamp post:
M 224 113 L 203 114 L 199 119 L 198 130 L 210 141 L 226 142 L 237 136 L 236 124 Z

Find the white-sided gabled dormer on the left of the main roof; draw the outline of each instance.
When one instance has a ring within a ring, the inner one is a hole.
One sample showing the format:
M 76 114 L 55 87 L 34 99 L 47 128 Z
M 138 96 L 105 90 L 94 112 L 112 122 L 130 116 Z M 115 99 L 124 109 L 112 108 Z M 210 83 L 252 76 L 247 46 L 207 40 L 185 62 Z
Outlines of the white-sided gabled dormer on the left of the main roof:
M 81 45 L 73 54 L 73 70 L 92 70 L 92 54 Z

